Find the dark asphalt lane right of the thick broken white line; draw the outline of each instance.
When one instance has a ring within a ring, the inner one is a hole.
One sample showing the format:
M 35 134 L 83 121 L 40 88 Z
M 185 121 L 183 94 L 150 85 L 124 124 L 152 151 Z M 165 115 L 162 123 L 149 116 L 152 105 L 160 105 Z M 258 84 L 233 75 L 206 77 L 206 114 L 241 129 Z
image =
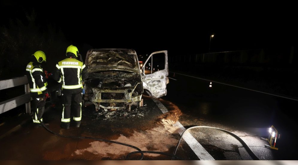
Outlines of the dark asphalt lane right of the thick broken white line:
M 206 125 L 222 128 L 240 136 L 261 160 L 297 160 L 298 101 L 197 79 L 182 74 L 169 75 L 167 96 L 183 115 L 184 127 Z M 174 80 L 175 79 L 175 80 Z M 280 134 L 278 151 L 264 147 L 268 128 L 273 125 Z M 232 136 L 218 130 L 190 130 L 216 160 L 251 160 L 243 146 Z M 194 158 L 190 158 L 194 159 Z

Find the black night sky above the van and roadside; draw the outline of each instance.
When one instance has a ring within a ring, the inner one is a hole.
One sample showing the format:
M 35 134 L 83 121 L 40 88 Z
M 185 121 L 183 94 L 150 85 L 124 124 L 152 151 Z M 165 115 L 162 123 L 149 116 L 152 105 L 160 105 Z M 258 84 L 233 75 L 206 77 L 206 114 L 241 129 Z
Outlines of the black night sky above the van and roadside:
M 1 26 L 9 19 L 25 20 L 37 13 L 41 29 L 51 24 L 74 45 L 93 48 L 133 48 L 140 53 L 169 54 L 242 49 L 283 48 L 297 44 L 291 4 L 215 8 L 193 4 L 75 4 L 22 5 L 1 2 Z M 173 6 L 174 5 L 174 6 Z M 239 4 L 235 4 L 239 5 Z

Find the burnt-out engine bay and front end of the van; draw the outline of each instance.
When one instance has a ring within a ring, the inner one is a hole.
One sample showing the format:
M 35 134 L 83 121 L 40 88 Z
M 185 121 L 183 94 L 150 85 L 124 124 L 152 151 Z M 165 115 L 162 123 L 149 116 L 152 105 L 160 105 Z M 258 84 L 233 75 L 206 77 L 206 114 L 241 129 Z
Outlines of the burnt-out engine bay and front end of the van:
M 85 101 L 107 109 L 131 110 L 131 105 L 141 101 L 143 83 L 140 74 L 120 70 L 98 71 L 89 73 L 85 81 Z

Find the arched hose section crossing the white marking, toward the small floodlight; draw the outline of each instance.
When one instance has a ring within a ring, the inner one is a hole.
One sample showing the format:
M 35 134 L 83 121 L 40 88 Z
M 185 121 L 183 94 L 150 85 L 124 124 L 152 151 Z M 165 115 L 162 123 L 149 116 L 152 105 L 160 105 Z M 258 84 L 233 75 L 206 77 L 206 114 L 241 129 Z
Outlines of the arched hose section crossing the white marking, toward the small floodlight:
M 248 146 L 248 145 L 247 145 L 247 144 L 246 144 L 240 137 L 238 137 L 237 135 L 233 134 L 233 133 L 230 132 L 230 131 L 227 131 L 227 130 L 224 130 L 224 129 L 221 129 L 221 128 L 216 128 L 216 127 L 209 127 L 209 126 L 193 126 L 193 127 L 187 128 L 187 129 L 181 134 L 181 137 L 180 137 L 180 139 L 179 139 L 179 142 L 177 143 L 177 146 L 176 146 L 176 148 L 175 148 L 175 150 L 174 150 L 173 155 L 176 155 L 176 151 L 177 151 L 178 146 L 179 146 L 179 144 L 180 144 L 180 142 L 181 142 L 181 139 L 182 139 L 182 137 L 183 137 L 183 134 L 184 134 L 187 130 L 190 130 L 190 129 L 192 129 L 192 128 L 213 128 L 213 129 L 217 129 L 217 130 L 220 130 L 220 131 L 224 131 L 224 132 L 226 132 L 226 133 L 228 133 L 228 134 L 231 134 L 233 137 L 235 137 L 237 140 L 239 140 L 240 143 L 243 144 L 244 148 L 246 149 L 246 151 L 247 151 L 248 154 L 252 157 L 253 160 L 260 160 L 260 159 L 255 155 L 255 153 L 252 152 L 252 150 L 249 148 L 249 146 Z M 172 157 L 172 160 L 174 160 L 174 157 Z

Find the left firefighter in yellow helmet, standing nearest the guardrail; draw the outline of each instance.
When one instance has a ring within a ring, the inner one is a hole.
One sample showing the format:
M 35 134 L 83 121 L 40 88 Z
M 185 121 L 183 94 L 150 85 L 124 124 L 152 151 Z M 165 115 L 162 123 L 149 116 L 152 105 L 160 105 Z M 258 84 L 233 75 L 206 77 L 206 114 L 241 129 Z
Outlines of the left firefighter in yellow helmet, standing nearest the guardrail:
M 46 54 L 42 51 L 37 51 L 32 54 L 30 62 L 26 67 L 26 75 L 28 78 L 29 86 L 30 86 L 30 96 L 33 100 L 33 111 L 36 112 L 41 121 L 43 121 L 43 113 L 45 110 L 45 100 L 49 98 L 48 90 L 47 90 L 47 81 L 46 75 L 43 72 L 43 68 L 41 64 L 46 62 Z M 39 102 L 40 98 L 43 98 L 43 102 Z M 37 103 L 40 103 L 37 105 Z M 41 127 L 36 113 L 33 116 L 33 123 L 35 127 Z M 45 123 L 44 125 L 48 126 L 49 124 Z

